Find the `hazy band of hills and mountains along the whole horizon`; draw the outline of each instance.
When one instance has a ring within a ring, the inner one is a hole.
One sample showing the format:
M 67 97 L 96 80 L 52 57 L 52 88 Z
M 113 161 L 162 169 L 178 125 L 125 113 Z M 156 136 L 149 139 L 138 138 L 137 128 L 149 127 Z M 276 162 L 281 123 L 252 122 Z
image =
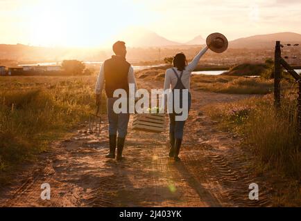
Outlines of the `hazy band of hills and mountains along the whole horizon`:
M 6 45 L 0 44 L 0 60 L 15 61 L 62 61 L 63 59 L 78 59 L 83 61 L 103 61 L 112 55 L 110 45 L 114 41 L 126 41 L 128 47 L 127 59 L 130 62 L 160 62 L 164 57 L 174 56 L 178 52 L 184 52 L 188 58 L 192 58 L 204 44 L 205 39 L 200 35 L 187 41 L 186 44 L 180 44 L 170 41 L 155 32 L 148 30 L 127 30 L 121 33 L 119 37 L 110 40 L 107 48 L 46 48 L 37 46 L 25 46 L 22 44 Z M 282 32 L 270 35 L 255 35 L 230 41 L 230 47 L 227 52 L 217 55 L 208 52 L 204 57 L 210 57 L 212 63 L 226 59 L 227 64 L 237 64 L 237 62 L 264 61 L 266 57 L 273 56 L 275 41 L 280 40 L 282 43 L 298 43 L 301 46 L 301 35 L 292 32 Z M 110 46 L 110 47 L 108 47 Z M 160 50 L 159 50 L 160 48 Z M 300 47 L 295 47 L 295 55 L 300 57 Z M 204 61 L 204 60 L 203 60 Z M 0 64 L 1 65 L 1 64 Z M 295 65 L 300 66 L 299 60 Z

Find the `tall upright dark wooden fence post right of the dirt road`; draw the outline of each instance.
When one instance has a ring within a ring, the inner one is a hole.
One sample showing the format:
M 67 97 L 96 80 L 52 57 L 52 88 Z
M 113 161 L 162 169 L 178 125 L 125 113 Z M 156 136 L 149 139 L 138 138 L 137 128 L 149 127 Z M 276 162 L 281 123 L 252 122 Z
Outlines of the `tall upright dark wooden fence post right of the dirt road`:
M 274 69 L 274 99 L 275 106 L 280 106 L 280 77 L 281 77 L 281 48 L 280 41 L 276 41 L 275 46 L 275 69 Z

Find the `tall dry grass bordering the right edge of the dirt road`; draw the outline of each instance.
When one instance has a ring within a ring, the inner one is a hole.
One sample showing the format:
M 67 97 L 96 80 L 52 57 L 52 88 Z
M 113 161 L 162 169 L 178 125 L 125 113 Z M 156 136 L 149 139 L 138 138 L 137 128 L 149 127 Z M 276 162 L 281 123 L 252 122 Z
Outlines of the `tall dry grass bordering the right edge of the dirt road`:
M 221 127 L 239 133 L 255 157 L 255 169 L 275 179 L 275 206 L 300 206 L 301 140 L 297 130 L 296 91 L 273 106 L 273 96 L 254 97 L 207 109 Z

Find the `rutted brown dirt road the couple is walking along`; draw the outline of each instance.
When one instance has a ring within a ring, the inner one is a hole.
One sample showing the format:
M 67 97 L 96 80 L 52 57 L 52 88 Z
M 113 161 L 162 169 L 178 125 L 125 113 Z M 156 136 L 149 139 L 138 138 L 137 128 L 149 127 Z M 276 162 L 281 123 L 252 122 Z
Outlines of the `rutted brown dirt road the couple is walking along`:
M 156 82 L 149 82 L 153 88 Z M 1 206 L 270 206 L 269 191 L 248 169 L 248 155 L 238 137 L 218 131 L 203 113 L 206 105 L 246 95 L 192 92 L 182 161 L 167 156 L 168 131 L 155 134 L 129 128 L 126 160 L 105 159 L 107 119 L 101 135 L 83 133 L 81 124 L 63 141 L 53 143 L 40 162 L 28 166 L 17 183 L 3 189 Z M 168 118 L 166 117 L 168 121 Z M 129 124 L 131 125 L 131 123 Z M 259 201 L 248 198 L 249 184 L 261 186 Z M 41 200 L 41 184 L 51 186 L 51 200 Z

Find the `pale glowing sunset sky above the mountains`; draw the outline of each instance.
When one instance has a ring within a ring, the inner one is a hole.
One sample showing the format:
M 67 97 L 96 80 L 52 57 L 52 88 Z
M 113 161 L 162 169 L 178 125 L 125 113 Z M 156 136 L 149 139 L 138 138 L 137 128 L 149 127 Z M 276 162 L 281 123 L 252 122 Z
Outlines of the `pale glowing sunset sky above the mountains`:
M 172 41 L 301 33 L 300 0 L 0 0 L 0 44 L 107 46 L 129 27 Z

